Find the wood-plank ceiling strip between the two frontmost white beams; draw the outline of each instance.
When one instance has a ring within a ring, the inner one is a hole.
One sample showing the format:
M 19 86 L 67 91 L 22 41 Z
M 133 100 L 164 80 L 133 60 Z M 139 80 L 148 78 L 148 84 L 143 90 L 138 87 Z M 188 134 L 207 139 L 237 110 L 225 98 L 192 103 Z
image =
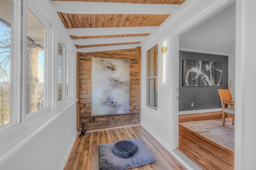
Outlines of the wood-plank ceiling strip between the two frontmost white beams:
M 159 26 L 170 14 L 66 14 L 58 12 L 65 28 Z M 83 20 L 87 18 L 87 20 Z M 80 24 L 80 21 L 88 22 Z M 108 22 L 111 22 L 108 23 Z

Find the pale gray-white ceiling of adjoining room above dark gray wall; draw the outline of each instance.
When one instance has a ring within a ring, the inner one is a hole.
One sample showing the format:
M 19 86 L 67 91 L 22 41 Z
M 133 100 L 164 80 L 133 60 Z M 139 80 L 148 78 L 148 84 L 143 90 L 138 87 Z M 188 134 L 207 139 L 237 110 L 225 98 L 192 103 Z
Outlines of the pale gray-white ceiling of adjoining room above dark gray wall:
M 236 3 L 180 35 L 180 48 L 217 54 L 235 53 Z

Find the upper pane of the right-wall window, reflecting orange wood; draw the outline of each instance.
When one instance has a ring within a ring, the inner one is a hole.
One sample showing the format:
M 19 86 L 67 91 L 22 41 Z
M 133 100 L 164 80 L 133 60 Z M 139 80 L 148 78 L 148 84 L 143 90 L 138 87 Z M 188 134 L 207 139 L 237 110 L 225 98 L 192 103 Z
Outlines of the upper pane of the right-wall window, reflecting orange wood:
M 147 51 L 147 77 L 158 75 L 158 45 Z

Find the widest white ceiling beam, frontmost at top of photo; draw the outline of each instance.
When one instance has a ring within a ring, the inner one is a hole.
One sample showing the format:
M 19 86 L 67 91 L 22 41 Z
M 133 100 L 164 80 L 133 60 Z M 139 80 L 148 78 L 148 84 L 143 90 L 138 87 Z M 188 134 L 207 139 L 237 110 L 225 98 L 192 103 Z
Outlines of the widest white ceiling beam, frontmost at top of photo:
M 68 14 L 172 14 L 177 4 L 135 4 L 113 2 L 51 1 L 58 12 Z

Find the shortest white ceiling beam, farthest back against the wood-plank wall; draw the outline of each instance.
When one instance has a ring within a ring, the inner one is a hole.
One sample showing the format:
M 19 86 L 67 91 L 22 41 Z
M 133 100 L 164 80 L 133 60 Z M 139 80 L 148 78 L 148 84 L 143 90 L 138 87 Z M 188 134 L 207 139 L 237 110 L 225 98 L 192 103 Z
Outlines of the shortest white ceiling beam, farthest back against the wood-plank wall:
M 79 52 L 79 53 L 91 53 L 91 52 L 98 52 L 98 51 L 134 49 L 134 48 L 136 48 L 138 46 L 140 46 L 140 44 L 112 45 L 112 46 L 103 46 L 103 47 L 89 47 L 89 48 L 77 49 L 77 52 Z

